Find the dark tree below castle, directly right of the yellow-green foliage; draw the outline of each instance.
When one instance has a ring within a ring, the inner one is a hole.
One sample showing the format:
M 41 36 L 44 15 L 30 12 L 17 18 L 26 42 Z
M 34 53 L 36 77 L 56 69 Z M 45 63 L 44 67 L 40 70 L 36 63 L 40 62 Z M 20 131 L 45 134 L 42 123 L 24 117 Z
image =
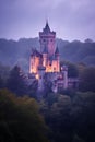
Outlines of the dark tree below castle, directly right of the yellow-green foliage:
M 41 106 L 46 123 L 50 128 L 50 140 L 55 142 L 71 142 L 71 99 L 67 95 L 49 94 Z

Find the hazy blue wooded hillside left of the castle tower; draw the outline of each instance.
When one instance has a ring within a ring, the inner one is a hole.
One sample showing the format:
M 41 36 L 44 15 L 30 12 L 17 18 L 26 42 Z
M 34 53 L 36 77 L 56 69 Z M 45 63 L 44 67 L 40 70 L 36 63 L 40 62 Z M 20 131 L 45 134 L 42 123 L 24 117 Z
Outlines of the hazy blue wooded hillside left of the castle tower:
M 28 57 L 32 46 L 39 47 L 38 38 L 22 38 L 17 42 L 0 39 L 0 60 L 11 68 L 19 63 L 23 70 L 28 71 Z

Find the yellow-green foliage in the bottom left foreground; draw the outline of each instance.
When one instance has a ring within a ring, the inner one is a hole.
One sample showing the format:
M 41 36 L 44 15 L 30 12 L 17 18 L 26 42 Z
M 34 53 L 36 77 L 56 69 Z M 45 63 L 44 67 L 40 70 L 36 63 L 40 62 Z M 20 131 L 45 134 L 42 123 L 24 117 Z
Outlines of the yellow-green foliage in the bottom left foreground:
M 0 141 L 47 142 L 47 128 L 35 99 L 0 91 Z

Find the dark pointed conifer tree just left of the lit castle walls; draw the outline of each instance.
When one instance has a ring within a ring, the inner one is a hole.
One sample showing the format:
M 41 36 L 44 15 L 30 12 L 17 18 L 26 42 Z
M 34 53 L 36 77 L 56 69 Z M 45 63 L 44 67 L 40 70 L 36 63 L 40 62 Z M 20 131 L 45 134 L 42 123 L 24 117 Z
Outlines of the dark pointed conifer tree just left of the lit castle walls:
M 10 91 L 17 95 L 26 94 L 27 84 L 25 81 L 24 73 L 21 71 L 20 67 L 15 66 L 11 70 L 7 86 Z

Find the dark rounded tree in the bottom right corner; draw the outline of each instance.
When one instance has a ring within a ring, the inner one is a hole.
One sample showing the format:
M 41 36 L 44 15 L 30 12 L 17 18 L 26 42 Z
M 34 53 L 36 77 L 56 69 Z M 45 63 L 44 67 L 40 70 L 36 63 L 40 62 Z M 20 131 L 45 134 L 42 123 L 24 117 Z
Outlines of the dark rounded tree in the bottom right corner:
M 71 109 L 74 133 L 84 142 L 95 141 L 95 93 L 76 93 Z

